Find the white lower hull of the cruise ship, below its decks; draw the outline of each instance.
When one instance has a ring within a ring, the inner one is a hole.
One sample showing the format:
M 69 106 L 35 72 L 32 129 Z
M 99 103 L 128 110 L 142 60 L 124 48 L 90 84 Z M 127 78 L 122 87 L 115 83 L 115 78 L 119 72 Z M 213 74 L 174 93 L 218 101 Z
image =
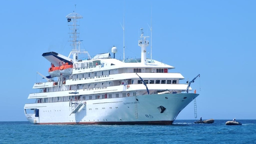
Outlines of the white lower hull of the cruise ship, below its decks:
M 172 124 L 178 113 L 198 95 L 150 94 L 73 101 L 76 106 L 82 104 L 76 113 L 72 113 L 76 106 L 71 102 L 26 104 L 24 109 L 39 109 L 38 117 L 26 114 L 28 121 L 36 124 Z

